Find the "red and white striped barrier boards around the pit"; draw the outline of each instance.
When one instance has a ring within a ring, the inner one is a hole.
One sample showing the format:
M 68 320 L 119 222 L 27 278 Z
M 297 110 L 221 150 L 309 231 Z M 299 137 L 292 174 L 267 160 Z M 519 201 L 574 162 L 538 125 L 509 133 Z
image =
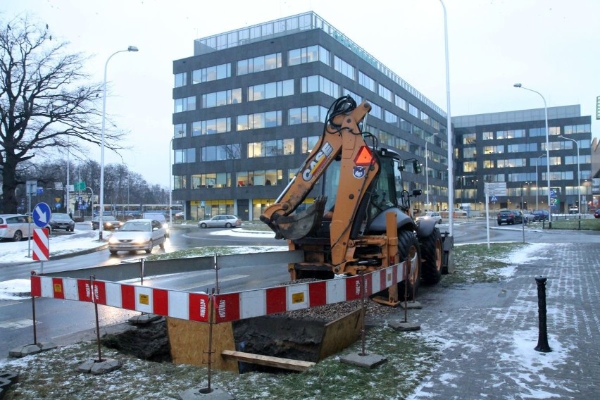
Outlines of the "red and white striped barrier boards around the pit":
M 365 296 L 396 285 L 404 276 L 406 263 L 364 275 Z M 268 289 L 213 295 L 215 323 L 259 317 L 361 299 L 362 277 L 342 277 Z M 208 323 L 211 296 L 102 280 L 32 275 L 31 295 L 165 315 Z

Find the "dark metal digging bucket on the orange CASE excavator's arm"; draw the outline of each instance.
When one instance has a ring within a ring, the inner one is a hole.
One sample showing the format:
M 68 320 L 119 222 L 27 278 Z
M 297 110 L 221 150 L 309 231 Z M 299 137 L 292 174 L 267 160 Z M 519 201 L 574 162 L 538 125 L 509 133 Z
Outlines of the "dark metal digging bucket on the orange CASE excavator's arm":
M 321 225 L 326 201 L 327 196 L 319 196 L 305 211 L 282 216 L 268 224 L 275 231 L 275 238 L 297 240 L 311 235 Z

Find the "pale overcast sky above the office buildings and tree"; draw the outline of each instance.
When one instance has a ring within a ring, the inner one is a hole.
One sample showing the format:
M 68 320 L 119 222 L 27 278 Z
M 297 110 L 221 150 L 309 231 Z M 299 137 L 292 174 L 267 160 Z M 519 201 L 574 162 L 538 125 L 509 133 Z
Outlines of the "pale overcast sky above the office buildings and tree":
M 580 104 L 599 137 L 599 0 L 446 0 L 451 115 Z M 446 110 L 444 15 L 439 0 L 2 0 L 1 18 L 27 11 L 69 50 L 94 56 L 101 82 L 108 56 L 106 112 L 130 131 L 130 169 L 168 187 L 173 135 L 173 61 L 194 39 L 314 11 Z M 310 133 L 310 132 L 308 132 Z M 315 132 L 313 132 L 315 133 Z M 320 132 L 318 132 L 320 133 Z M 100 150 L 90 157 L 100 161 Z M 120 158 L 106 152 L 106 163 Z

